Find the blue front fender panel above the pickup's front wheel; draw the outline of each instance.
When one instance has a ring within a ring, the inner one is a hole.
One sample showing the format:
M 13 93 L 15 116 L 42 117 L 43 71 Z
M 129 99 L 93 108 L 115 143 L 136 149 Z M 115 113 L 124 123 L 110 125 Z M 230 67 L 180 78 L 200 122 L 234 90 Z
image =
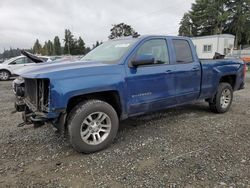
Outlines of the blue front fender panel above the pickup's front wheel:
M 123 70 L 123 69 L 120 69 Z M 97 74 L 84 77 L 50 80 L 50 110 L 66 109 L 70 99 L 92 93 L 117 91 L 121 99 L 122 111 L 126 112 L 123 72 L 113 74 Z

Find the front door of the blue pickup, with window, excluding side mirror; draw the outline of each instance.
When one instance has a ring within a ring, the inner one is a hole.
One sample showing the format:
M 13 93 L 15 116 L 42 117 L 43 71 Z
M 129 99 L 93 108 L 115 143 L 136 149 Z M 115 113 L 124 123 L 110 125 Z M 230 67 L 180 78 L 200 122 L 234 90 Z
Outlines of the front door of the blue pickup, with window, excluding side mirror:
M 126 68 L 129 115 L 162 109 L 174 104 L 174 66 L 164 38 L 144 41 L 132 55 L 153 55 L 155 63 Z M 133 58 L 132 57 L 132 58 Z

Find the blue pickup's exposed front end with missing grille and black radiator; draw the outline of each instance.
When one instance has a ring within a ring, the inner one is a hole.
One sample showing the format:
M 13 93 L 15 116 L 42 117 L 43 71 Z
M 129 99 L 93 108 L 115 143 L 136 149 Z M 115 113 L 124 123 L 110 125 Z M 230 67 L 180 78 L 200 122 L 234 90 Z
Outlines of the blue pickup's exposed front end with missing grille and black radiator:
M 43 125 L 51 120 L 49 79 L 18 77 L 13 81 L 13 92 L 16 95 L 15 109 L 23 112 L 24 124 Z

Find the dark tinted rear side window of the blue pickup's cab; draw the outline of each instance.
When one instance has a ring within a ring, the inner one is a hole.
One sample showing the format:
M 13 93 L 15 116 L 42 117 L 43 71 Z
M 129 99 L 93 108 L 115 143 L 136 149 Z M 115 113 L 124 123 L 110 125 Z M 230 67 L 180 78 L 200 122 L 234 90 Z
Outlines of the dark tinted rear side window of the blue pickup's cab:
M 173 46 L 175 50 L 176 63 L 194 62 L 191 46 L 187 40 L 174 39 Z

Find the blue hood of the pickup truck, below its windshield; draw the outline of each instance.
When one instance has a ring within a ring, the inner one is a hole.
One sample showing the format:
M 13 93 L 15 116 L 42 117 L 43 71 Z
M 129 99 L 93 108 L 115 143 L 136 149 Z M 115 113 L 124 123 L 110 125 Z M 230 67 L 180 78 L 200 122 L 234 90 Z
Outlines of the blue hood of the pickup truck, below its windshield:
M 14 73 L 24 78 L 65 78 L 83 76 L 86 74 L 100 74 L 105 66 L 111 66 L 101 62 L 90 61 L 66 61 L 50 62 L 26 66 L 16 70 Z M 98 69 L 97 69 L 98 68 Z M 91 71 L 95 69 L 95 71 Z

